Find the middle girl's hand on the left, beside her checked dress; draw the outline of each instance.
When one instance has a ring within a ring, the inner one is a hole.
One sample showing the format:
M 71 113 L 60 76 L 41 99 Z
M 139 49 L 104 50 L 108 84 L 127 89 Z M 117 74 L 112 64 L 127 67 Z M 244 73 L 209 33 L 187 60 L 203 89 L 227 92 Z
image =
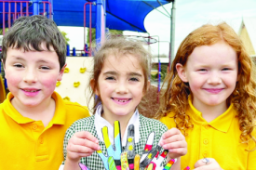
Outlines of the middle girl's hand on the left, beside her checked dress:
M 101 150 L 96 137 L 89 132 L 76 132 L 67 146 L 67 160 L 79 162 L 82 157 L 90 156 L 95 150 Z

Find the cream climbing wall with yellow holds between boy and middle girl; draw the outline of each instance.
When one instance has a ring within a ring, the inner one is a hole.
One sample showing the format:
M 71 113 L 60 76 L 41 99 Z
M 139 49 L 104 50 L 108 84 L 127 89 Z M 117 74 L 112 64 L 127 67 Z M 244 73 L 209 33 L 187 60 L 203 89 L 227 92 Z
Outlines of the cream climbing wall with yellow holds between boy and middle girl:
M 91 99 L 88 103 L 88 85 L 93 69 L 93 58 L 67 57 L 66 62 L 67 67 L 63 73 L 61 82 L 57 82 L 55 91 L 57 91 L 63 99 L 92 108 L 94 100 Z

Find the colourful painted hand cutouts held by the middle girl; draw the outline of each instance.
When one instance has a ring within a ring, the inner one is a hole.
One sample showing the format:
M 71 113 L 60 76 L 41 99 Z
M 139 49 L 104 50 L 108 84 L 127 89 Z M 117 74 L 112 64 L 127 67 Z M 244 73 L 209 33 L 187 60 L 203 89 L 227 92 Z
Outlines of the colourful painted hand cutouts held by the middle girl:
M 157 146 L 153 147 L 155 132 L 152 132 L 145 144 L 142 156 L 135 153 L 135 131 L 134 125 L 128 126 L 128 139 L 125 150 L 121 146 L 120 124 L 115 121 L 114 124 L 114 145 L 111 144 L 108 136 L 108 128 L 102 128 L 103 140 L 107 149 L 107 155 L 101 150 L 97 153 L 101 157 L 102 163 L 106 170 L 169 170 L 176 160 L 170 160 L 166 165 L 162 165 L 168 155 L 168 150 L 162 150 L 158 142 Z M 89 170 L 87 166 L 79 163 L 82 170 Z

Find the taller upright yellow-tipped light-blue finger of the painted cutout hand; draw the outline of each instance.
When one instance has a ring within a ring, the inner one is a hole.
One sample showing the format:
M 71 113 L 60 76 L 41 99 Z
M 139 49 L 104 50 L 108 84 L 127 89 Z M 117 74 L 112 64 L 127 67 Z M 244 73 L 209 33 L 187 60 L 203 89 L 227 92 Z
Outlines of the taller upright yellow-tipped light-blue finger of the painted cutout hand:
M 115 123 L 114 123 L 114 135 L 115 135 L 115 154 L 116 154 L 115 157 L 117 157 L 118 155 L 120 156 L 120 154 L 122 152 L 119 121 L 115 121 Z

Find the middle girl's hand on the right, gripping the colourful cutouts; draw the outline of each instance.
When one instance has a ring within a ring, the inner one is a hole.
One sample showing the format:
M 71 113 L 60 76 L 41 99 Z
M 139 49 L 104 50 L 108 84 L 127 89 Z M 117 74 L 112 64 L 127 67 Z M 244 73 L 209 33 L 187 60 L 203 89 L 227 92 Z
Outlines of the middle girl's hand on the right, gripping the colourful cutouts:
M 187 142 L 181 131 L 177 128 L 171 128 L 162 136 L 160 145 L 168 150 L 168 157 L 175 159 L 187 153 Z

